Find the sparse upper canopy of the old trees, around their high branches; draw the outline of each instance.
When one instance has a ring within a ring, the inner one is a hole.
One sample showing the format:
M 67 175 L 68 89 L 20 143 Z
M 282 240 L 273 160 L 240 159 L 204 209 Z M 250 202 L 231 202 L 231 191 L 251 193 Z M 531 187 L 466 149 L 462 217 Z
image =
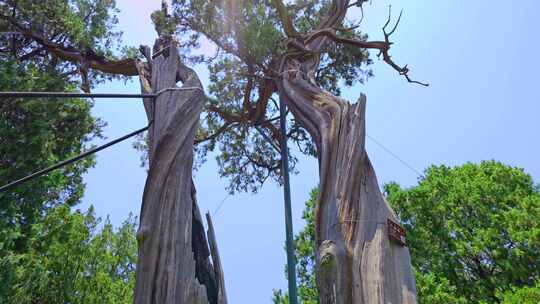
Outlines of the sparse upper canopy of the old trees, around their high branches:
M 329 1 L 296 0 L 287 10 L 299 33 L 307 33 L 329 7 Z M 174 0 L 170 9 L 164 4 L 152 14 L 158 33 L 174 35 L 188 62 L 208 66 L 210 98 L 197 135 L 197 158 L 200 164 L 216 151 L 231 192 L 257 191 L 268 179 L 280 182 L 276 71 L 294 39 L 286 39 L 277 12 L 269 0 Z M 137 75 L 137 54 L 121 46 L 116 13 L 113 0 L 0 0 L 0 28 L 20 34 L 0 37 L 0 54 L 55 66 L 71 80 L 80 78 L 83 90 L 114 75 Z M 358 22 L 346 18 L 336 30 L 341 37 L 365 40 Z M 213 44 L 215 55 L 192 52 L 202 42 Z M 365 49 L 330 43 L 321 55 L 316 79 L 335 94 L 372 75 Z M 294 120 L 288 130 L 286 136 L 301 152 L 315 155 L 311 139 Z M 290 160 L 294 167 L 297 159 L 291 155 Z

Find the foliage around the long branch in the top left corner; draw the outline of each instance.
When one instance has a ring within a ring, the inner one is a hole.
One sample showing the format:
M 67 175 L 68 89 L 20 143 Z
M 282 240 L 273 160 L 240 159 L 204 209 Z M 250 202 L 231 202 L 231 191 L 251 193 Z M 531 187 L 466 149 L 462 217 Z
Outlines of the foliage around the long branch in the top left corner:
M 38 33 L 48 43 L 115 59 L 118 55 L 133 54 L 130 48 L 120 44 L 122 33 L 115 30 L 117 13 L 114 0 L 0 0 L 0 28 L 20 32 L 20 28 L 8 22 L 7 18 L 12 18 L 18 26 Z M 6 57 L 20 64 L 32 62 L 56 69 L 70 80 L 79 80 L 81 75 L 80 64 L 61 61 L 22 35 L 0 36 L 0 59 Z M 112 78 L 90 71 L 86 84 L 93 86 Z

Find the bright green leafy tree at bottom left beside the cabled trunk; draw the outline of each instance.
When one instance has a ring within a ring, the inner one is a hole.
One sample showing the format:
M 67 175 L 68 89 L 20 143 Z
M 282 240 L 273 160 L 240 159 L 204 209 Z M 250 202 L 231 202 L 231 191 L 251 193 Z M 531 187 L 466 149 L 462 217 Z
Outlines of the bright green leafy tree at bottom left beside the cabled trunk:
M 135 218 L 119 229 L 93 210 L 50 210 L 33 224 L 28 249 L 0 258 L 9 276 L 0 281 L 0 303 L 131 303 L 137 242 Z

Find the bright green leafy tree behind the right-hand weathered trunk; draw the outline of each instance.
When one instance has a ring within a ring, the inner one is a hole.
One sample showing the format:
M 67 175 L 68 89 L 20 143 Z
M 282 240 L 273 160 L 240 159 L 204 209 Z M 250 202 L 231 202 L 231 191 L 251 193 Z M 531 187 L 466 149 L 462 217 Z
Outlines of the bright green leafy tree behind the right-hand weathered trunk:
M 384 189 L 407 230 L 419 303 L 540 303 L 540 188 L 522 169 L 432 166 L 417 186 Z M 318 303 L 315 200 L 314 190 L 296 237 L 301 303 Z M 287 294 L 275 290 L 273 301 Z

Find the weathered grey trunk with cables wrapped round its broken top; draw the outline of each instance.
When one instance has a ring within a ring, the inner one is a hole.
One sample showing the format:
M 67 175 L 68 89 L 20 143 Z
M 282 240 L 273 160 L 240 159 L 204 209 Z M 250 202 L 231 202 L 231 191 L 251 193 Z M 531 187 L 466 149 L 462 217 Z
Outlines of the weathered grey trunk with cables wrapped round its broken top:
M 154 50 L 158 52 L 151 59 L 149 48 L 143 49 L 149 62 L 137 66 L 143 93 L 159 96 L 144 101 L 150 167 L 137 232 L 134 302 L 226 303 L 220 297 L 225 294 L 220 290 L 223 272 L 220 263 L 217 268 L 211 263 L 192 182 L 193 143 L 204 92 L 196 73 L 180 62 L 174 42 L 158 39 Z M 176 86 L 179 80 L 184 90 Z M 210 233 L 215 240 L 213 230 Z

